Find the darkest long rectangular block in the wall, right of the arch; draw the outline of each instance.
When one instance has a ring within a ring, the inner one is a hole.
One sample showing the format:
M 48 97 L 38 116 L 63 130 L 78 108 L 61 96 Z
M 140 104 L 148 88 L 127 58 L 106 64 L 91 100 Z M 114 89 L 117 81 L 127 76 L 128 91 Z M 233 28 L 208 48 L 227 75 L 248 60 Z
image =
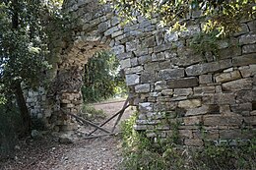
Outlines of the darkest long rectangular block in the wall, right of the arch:
M 191 77 L 191 78 L 183 78 L 183 79 L 176 79 L 176 80 L 169 80 L 167 81 L 167 85 L 169 88 L 185 88 L 185 87 L 192 87 L 198 85 L 198 79 Z

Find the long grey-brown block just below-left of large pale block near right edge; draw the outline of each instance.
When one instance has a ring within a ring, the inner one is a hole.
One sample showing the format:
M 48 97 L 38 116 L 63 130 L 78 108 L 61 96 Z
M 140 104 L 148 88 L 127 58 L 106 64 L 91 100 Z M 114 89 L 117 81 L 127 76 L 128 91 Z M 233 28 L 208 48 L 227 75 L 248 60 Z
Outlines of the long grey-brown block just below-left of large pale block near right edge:
M 233 93 L 216 93 L 203 96 L 203 104 L 234 104 L 235 95 Z

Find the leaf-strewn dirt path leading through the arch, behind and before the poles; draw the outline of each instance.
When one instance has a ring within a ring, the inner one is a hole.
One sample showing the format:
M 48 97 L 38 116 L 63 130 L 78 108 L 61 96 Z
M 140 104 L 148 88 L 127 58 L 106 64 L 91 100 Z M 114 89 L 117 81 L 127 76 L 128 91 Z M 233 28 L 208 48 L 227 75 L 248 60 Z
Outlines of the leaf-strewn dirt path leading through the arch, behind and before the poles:
M 123 106 L 124 101 L 97 103 L 110 117 Z M 122 120 L 127 119 L 134 110 L 129 107 Z M 111 129 L 115 120 L 106 128 Z M 93 128 L 87 128 L 93 130 Z M 12 159 L 0 160 L 0 170 L 112 170 L 118 169 L 122 161 L 119 127 L 115 136 L 92 140 L 77 140 L 70 144 L 57 142 L 49 136 L 40 140 L 28 138 L 16 146 Z M 98 134 L 100 132 L 97 132 Z

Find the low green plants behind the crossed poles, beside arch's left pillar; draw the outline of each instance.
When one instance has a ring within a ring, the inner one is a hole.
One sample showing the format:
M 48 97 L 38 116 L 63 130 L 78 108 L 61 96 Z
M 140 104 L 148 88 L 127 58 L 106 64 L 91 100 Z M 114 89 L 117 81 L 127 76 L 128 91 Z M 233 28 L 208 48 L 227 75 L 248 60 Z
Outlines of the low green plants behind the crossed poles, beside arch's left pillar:
M 96 110 L 96 108 L 90 104 L 83 105 L 82 113 L 80 113 L 80 116 L 89 121 L 98 121 L 100 119 L 106 118 L 106 114 L 102 109 Z

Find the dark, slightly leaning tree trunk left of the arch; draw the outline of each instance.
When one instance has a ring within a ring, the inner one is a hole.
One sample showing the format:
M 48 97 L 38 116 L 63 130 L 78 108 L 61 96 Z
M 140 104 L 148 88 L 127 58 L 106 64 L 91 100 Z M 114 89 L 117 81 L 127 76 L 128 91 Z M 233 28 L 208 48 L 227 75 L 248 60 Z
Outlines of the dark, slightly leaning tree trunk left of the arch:
M 21 117 L 23 120 L 23 130 L 21 132 L 21 136 L 25 137 L 26 135 L 30 134 L 32 128 L 32 118 L 29 112 L 29 109 L 26 105 L 26 100 L 23 94 L 23 89 L 21 83 L 16 84 L 15 90 L 16 100 L 21 112 Z

